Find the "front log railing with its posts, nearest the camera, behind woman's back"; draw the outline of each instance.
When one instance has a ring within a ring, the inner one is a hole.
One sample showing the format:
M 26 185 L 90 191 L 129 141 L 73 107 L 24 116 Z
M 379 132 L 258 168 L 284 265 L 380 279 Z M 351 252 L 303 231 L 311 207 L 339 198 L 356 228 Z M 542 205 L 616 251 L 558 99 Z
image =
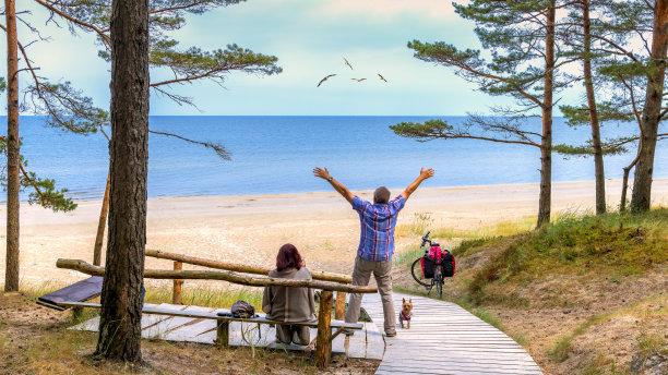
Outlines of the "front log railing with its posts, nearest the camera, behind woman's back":
M 177 254 L 178 255 L 178 254 Z M 162 256 L 165 257 L 165 253 L 162 253 Z M 271 277 L 253 277 L 241 275 L 230 270 L 190 270 L 182 269 L 182 263 L 184 257 L 181 257 L 182 261 L 175 261 L 174 269 L 144 269 L 144 278 L 147 279 L 172 279 L 174 283 L 174 295 L 172 300 L 179 300 L 181 298 L 181 288 L 182 282 L 186 279 L 192 280 L 224 280 L 234 283 L 239 283 L 242 286 L 251 286 L 251 287 L 270 287 L 270 286 L 282 286 L 288 288 L 311 288 L 311 289 L 320 289 L 322 290 L 320 294 L 320 310 L 318 314 L 318 337 L 315 342 L 315 363 L 319 367 L 324 368 L 330 364 L 331 355 L 332 355 L 332 328 L 331 328 L 331 318 L 332 318 L 332 307 L 333 307 L 333 295 L 332 292 L 337 292 L 337 301 L 336 301 L 336 313 L 335 315 L 337 319 L 339 311 L 345 311 L 345 300 L 344 298 L 338 298 L 338 295 L 345 295 L 343 293 L 375 293 L 378 290 L 374 287 L 363 287 L 363 286 L 353 286 L 349 283 L 342 283 L 335 281 L 324 281 L 322 279 L 313 279 L 313 280 L 295 280 L 295 279 L 282 279 L 282 278 L 271 278 Z M 201 265 L 201 264 L 199 264 Z M 229 265 L 229 264 L 227 264 Z M 226 266 L 227 266 L 226 265 Z M 222 267 L 220 264 L 218 266 Z M 236 265 L 239 266 L 239 265 Z M 56 267 L 64 268 L 64 269 L 73 269 L 83 274 L 92 275 L 92 276 L 104 276 L 105 268 L 99 266 L 94 266 L 90 263 L 80 259 L 58 259 L 56 262 Z M 321 274 L 322 275 L 322 274 Z

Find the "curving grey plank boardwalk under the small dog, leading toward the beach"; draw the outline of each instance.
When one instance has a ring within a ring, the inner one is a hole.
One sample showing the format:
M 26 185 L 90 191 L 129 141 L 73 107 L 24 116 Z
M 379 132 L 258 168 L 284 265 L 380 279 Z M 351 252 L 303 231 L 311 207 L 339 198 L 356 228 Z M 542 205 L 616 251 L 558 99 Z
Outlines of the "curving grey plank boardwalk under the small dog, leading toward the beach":
M 394 293 L 397 314 L 402 298 L 414 302 L 410 329 L 397 325 L 397 336 L 385 338 L 377 374 L 542 374 L 513 339 L 458 305 Z M 362 306 L 382 331 L 380 295 L 366 294 Z

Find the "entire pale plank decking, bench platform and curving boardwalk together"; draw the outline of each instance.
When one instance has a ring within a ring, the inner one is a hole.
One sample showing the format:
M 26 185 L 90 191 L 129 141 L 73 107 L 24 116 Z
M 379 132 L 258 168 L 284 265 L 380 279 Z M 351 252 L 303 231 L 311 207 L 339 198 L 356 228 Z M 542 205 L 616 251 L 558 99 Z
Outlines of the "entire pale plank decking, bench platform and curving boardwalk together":
M 362 306 L 373 323 L 350 338 L 350 358 L 382 360 L 377 374 L 542 374 L 530 355 L 502 331 L 480 320 L 454 303 L 424 297 L 394 294 L 396 312 L 402 298 L 413 298 L 415 304 L 410 329 L 397 328 L 397 336 L 383 338 L 383 310 L 379 294 L 363 297 Z M 148 304 L 146 304 L 148 306 Z M 160 304 L 160 310 L 218 312 L 198 306 Z M 96 331 L 99 318 L 84 322 L 72 329 Z M 398 326 L 397 326 L 398 327 Z M 142 337 L 155 340 L 214 343 L 215 322 L 187 317 L 144 314 Z M 315 329 L 311 330 L 311 339 Z M 303 350 L 298 346 L 277 346 L 275 330 L 266 325 L 230 324 L 230 346 L 255 346 Z M 344 353 L 344 336 L 333 341 L 333 352 Z

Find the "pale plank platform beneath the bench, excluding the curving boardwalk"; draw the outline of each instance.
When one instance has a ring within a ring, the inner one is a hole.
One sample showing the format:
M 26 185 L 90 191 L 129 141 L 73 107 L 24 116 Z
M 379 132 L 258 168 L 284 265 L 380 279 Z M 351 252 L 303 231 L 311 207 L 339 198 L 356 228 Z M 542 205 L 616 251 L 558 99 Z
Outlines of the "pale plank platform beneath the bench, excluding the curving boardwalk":
M 145 304 L 144 307 L 155 307 L 159 311 L 179 310 L 187 312 L 228 312 L 225 309 L 208 309 L 163 303 Z M 94 317 L 71 329 L 97 331 L 99 317 Z M 317 329 L 311 329 L 311 339 L 315 338 Z M 216 322 L 212 319 L 144 314 L 142 316 L 142 337 L 153 340 L 214 343 L 216 338 Z M 275 342 L 276 331 L 269 325 L 231 322 L 229 325 L 229 344 L 243 347 L 261 347 L 286 350 L 305 350 L 300 346 L 285 346 Z M 381 360 L 385 343 L 381 332 L 373 323 L 366 323 L 365 328 L 350 338 L 348 356 L 358 359 Z M 345 353 L 344 335 L 337 336 L 332 342 L 334 353 Z

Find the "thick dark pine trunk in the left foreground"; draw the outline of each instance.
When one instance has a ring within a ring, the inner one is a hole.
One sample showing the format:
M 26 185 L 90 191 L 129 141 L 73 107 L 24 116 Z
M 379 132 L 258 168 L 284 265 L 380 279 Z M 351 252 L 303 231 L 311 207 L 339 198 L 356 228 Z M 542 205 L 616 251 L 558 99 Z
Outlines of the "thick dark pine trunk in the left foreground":
M 148 159 L 148 1 L 114 0 L 109 233 L 95 355 L 140 362 Z

